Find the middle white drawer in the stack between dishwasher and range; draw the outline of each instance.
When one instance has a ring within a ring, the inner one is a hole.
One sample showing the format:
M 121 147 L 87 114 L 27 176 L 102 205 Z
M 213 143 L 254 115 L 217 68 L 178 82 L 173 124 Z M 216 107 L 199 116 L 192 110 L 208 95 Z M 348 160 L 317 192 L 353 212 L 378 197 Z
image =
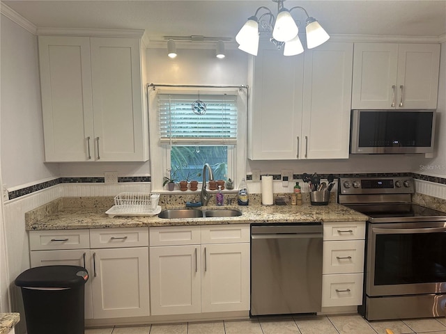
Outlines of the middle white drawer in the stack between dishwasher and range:
M 324 241 L 323 273 L 362 273 L 364 240 Z

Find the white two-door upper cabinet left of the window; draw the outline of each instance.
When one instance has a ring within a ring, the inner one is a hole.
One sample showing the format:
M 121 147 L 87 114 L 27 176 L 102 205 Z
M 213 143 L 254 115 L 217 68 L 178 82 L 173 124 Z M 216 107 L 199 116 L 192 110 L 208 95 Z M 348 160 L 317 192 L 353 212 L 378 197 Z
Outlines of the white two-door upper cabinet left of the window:
M 45 161 L 146 161 L 139 38 L 39 37 Z

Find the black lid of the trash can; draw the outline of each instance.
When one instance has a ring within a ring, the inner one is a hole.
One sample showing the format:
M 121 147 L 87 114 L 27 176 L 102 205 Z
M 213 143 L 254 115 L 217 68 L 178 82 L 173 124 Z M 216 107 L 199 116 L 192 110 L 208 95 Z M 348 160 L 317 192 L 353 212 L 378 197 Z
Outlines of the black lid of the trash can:
M 17 287 L 77 287 L 86 283 L 89 273 L 78 266 L 43 266 L 28 269 L 15 279 Z

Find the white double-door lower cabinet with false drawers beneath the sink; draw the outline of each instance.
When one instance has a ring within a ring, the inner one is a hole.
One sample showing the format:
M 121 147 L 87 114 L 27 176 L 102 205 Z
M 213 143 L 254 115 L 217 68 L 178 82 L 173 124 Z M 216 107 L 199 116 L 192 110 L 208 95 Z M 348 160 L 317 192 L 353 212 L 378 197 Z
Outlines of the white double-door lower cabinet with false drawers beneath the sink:
M 249 310 L 249 225 L 151 228 L 150 235 L 152 315 Z

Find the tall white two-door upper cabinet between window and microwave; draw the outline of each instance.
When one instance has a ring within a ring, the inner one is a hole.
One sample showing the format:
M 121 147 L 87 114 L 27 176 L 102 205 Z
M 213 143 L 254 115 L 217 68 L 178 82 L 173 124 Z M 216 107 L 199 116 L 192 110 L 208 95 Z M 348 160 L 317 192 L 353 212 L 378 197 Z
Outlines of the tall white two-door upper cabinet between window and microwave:
M 298 56 L 269 46 L 252 59 L 248 157 L 348 158 L 353 43 Z

